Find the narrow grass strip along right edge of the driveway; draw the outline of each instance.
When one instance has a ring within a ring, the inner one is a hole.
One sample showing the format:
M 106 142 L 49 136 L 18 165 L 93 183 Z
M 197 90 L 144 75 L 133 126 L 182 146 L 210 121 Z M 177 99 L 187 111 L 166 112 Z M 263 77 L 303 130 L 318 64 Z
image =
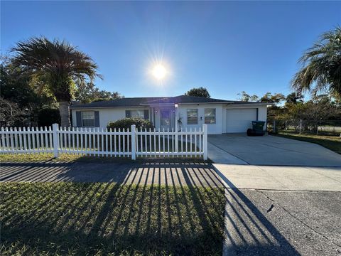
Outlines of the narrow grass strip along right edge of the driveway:
M 274 134 L 280 137 L 286 137 L 288 139 L 298 139 L 303 142 L 313 142 L 320 144 L 338 154 L 341 154 L 341 137 L 340 134 L 334 133 L 323 133 L 320 135 L 316 134 L 298 134 L 293 131 L 279 131 L 278 134 Z

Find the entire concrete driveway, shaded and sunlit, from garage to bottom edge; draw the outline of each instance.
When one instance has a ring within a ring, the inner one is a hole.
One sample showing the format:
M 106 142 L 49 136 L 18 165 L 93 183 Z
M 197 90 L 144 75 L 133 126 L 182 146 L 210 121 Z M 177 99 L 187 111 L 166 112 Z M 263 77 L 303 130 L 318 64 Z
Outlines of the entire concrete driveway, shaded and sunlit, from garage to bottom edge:
M 274 136 L 208 142 L 226 188 L 223 255 L 340 255 L 341 155 Z

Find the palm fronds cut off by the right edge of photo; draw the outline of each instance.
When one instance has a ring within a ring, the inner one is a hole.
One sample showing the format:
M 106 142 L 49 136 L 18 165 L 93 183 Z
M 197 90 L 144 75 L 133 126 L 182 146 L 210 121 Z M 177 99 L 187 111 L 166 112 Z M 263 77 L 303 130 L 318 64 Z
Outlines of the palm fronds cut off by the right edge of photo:
M 299 94 L 310 91 L 313 95 L 323 90 L 341 94 L 341 27 L 337 26 L 320 36 L 298 60 L 302 64 L 292 87 Z

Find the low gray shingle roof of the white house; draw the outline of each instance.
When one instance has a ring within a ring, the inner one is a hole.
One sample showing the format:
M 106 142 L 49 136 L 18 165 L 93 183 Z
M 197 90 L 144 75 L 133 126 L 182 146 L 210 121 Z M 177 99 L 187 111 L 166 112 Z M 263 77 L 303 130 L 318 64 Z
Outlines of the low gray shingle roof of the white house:
M 175 96 L 175 97 L 124 97 L 121 99 L 91 102 L 87 104 L 72 105 L 71 108 L 83 107 L 143 107 L 146 105 L 162 105 L 162 104 L 190 104 L 190 103 L 237 103 L 237 104 L 253 104 L 258 102 L 241 102 L 234 100 L 219 100 L 194 96 Z

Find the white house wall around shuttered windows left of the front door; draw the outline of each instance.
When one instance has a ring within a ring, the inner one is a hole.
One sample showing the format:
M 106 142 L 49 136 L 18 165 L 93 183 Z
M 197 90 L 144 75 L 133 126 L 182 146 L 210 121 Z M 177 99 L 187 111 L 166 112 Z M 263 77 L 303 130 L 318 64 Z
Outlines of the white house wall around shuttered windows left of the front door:
M 122 107 L 122 108 L 107 108 L 107 109 L 77 109 L 72 110 L 72 126 L 76 127 L 76 111 L 98 111 L 99 112 L 99 127 L 107 127 L 107 124 L 110 121 L 116 121 L 118 119 L 122 119 L 126 117 L 126 110 L 149 110 L 148 107 Z M 149 118 L 151 113 L 149 113 Z

